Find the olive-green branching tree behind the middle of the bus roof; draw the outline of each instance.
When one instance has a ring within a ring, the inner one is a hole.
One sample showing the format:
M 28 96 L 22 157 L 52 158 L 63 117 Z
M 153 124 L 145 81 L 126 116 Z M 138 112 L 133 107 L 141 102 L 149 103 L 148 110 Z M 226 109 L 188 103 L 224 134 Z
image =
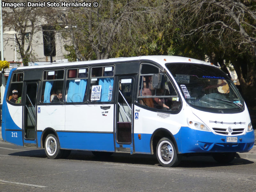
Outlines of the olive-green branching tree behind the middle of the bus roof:
M 101 0 L 97 8 L 69 7 L 62 10 L 58 18 L 63 26 L 67 26 L 65 30 L 61 28 L 63 36 L 70 39 L 67 48 L 74 49 L 77 60 L 123 56 L 138 42 L 145 42 L 146 25 L 157 24 L 155 18 L 161 15 L 161 2 Z M 139 48 L 135 52 L 139 52 Z

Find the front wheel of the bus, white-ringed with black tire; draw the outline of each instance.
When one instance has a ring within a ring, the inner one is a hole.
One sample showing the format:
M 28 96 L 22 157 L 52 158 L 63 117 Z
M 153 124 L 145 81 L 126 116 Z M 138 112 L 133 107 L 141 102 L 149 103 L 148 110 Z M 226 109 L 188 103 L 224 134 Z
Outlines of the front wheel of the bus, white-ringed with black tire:
M 172 141 L 168 138 L 162 138 L 156 146 L 156 157 L 158 162 L 164 167 L 174 167 L 180 163 L 181 155 L 177 154 Z

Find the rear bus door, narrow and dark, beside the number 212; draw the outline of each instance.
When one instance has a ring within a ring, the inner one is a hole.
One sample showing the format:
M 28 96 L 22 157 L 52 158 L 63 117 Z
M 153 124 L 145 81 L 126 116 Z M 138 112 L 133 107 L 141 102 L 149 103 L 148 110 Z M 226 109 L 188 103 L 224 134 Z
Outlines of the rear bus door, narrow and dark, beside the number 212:
M 26 82 L 23 105 L 23 145 L 36 147 L 36 114 L 38 82 Z

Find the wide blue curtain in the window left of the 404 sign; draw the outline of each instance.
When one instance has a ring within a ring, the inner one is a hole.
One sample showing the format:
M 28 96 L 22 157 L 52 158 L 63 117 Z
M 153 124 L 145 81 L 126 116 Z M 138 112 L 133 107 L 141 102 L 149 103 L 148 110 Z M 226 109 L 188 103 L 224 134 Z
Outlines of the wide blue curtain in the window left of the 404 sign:
M 69 80 L 67 102 L 83 102 L 87 79 Z

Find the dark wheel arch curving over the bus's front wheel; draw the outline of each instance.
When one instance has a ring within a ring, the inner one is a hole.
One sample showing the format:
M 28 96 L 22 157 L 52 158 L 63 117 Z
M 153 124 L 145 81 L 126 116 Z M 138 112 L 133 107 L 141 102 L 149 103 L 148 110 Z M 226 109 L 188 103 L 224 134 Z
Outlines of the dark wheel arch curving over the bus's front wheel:
M 173 142 L 175 149 L 178 153 L 179 152 L 178 145 L 176 143 L 174 136 L 172 135 L 172 133 L 169 130 L 167 130 L 165 128 L 158 128 L 153 132 L 151 139 L 150 139 L 150 153 L 152 155 L 155 154 L 157 143 L 163 137 L 166 137 Z

